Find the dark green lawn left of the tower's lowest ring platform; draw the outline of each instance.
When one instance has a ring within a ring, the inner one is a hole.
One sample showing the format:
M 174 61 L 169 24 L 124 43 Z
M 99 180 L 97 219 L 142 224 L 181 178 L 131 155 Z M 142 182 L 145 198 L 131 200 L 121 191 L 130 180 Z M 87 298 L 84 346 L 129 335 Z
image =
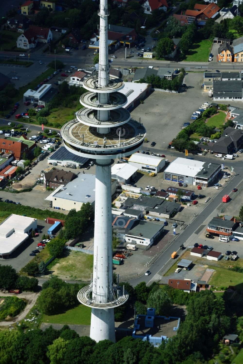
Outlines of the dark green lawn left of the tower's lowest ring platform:
M 78 305 L 57 315 L 43 315 L 42 322 L 51 324 L 90 325 L 91 308 Z

